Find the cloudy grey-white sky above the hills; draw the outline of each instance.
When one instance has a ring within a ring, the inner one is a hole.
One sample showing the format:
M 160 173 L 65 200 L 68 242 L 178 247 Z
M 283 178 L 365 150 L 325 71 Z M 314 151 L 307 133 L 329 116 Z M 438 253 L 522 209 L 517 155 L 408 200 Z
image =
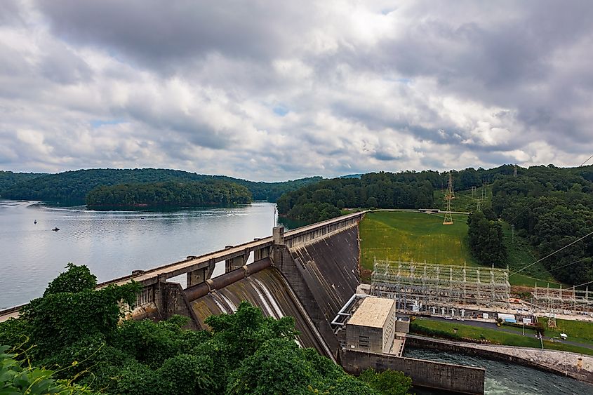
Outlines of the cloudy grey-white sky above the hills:
M 593 1 L 0 1 L 0 169 L 251 180 L 593 154 Z

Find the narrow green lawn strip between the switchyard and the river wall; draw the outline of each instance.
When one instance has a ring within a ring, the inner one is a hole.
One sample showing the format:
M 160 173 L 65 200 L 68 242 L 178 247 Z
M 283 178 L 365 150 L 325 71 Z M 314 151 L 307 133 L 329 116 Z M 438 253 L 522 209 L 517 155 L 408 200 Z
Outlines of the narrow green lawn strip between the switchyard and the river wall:
M 532 347 L 538 349 L 541 348 L 540 340 L 533 337 L 533 330 L 526 330 L 526 335 L 523 336 L 519 332 L 517 332 L 516 334 L 505 332 L 505 330 L 508 330 L 508 328 L 505 326 L 503 326 L 502 329 L 479 328 L 477 326 L 469 326 L 453 322 L 449 323 L 443 321 L 433 321 L 429 319 L 415 319 L 413 322 L 422 328 L 439 330 L 444 333 L 449 333 L 451 335 L 455 335 L 455 328 L 457 329 L 456 335 L 458 335 L 459 337 L 465 337 L 475 340 L 486 339 L 493 342 L 494 344 L 502 344 L 514 347 Z M 546 332 L 546 335 L 549 334 Z M 580 340 L 573 339 L 573 341 L 578 342 Z M 545 349 L 557 349 L 562 351 L 593 355 L 593 349 L 588 349 L 586 347 L 578 347 L 573 344 L 566 344 L 563 342 L 549 342 L 547 340 L 544 340 L 543 344 Z

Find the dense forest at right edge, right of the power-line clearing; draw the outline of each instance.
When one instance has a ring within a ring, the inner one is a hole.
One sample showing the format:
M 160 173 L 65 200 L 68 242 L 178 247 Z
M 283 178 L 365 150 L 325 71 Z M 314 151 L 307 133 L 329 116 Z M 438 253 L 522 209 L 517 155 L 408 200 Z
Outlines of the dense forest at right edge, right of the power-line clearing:
M 593 166 L 521 168 L 517 177 L 492 185 L 492 208 L 545 257 L 593 232 Z M 556 279 L 578 285 L 593 281 L 593 237 L 546 258 Z M 528 263 L 528 262 L 526 262 Z

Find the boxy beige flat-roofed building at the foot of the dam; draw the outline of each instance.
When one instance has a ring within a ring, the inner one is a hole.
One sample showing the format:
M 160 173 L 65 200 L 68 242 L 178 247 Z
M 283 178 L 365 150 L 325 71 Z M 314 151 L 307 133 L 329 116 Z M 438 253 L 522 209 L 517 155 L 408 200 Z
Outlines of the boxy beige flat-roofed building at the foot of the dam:
M 345 347 L 378 354 L 389 353 L 395 326 L 394 300 L 365 297 L 346 323 Z

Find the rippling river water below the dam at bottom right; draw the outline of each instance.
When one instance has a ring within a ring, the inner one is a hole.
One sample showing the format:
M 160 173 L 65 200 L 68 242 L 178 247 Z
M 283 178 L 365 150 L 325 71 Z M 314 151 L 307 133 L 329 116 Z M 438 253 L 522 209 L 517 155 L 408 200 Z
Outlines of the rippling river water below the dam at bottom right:
M 484 380 L 485 394 L 508 395 L 556 395 L 556 394 L 593 394 L 593 386 L 562 377 L 545 373 L 540 370 L 512 363 L 491 361 L 450 352 L 432 349 L 407 348 L 404 356 L 410 358 L 427 359 L 429 361 L 456 363 L 465 366 L 479 366 L 486 368 Z M 418 394 L 439 394 L 438 391 L 418 391 Z

